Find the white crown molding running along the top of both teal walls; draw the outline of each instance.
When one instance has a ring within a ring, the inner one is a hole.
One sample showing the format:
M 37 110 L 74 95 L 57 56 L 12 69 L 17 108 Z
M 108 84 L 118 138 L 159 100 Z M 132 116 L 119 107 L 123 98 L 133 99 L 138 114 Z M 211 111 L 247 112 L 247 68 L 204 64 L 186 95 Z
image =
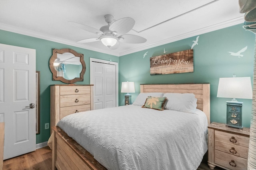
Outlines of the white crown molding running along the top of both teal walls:
M 138 47 L 138 48 L 135 48 L 135 49 L 131 49 L 131 50 L 128 50 L 128 51 L 124 51 L 124 52 L 121 52 L 121 53 L 112 51 L 111 55 L 115 55 L 115 56 L 120 57 L 120 56 L 123 56 L 123 55 L 136 53 L 138 51 L 142 51 L 142 50 L 150 49 L 150 48 L 157 47 L 157 46 L 160 46 L 160 45 L 172 43 L 172 42 L 179 41 L 179 40 L 182 40 L 182 39 L 186 39 L 186 38 L 189 38 L 189 37 L 193 37 L 193 36 L 196 36 L 196 35 L 201 35 L 201 34 L 204 34 L 204 33 L 211 32 L 211 31 L 216 31 L 218 29 L 230 27 L 230 26 L 237 25 L 237 24 L 240 24 L 240 23 L 244 23 L 244 17 L 243 16 L 235 18 L 233 20 L 224 21 L 224 22 L 221 22 L 221 23 L 210 25 L 208 27 L 204 27 L 204 28 L 200 28 L 200 29 L 197 29 L 197 30 L 194 30 L 194 31 L 190 31 L 190 32 L 187 32 L 187 33 L 176 35 L 174 37 L 170 37 L 168 39 L 164 39 L 164 40 L 158 41 L 156 43 L 152 43 L 152 44 L 145 45 L 145 46 L 142 46 L 142 47 Z M 93 48 L 92 46 L 89 46 L 89 45 L 79 44 L 79 43 L 76 43 L 76 42 L 73 42 L 73 41 L 68 41 L 66 39 L 61 39 L 61 38 L 49 36 L 49 35 L 46 35 L 46 34 L 30 31 L 30 30 L 27 30 L 27 29 L 22 29 L 22 28 L 19 28 L 19 27 L 6 25 L 6 24 L 3 24 L 3 23 L 0 23 L 0 29 L 2 29 L 4 31 L 19 33 L 19 34 L 22 34 L 22 35 L 28 35 L 28 36 L 31 36 L 31 37 L 45 39 L 45 40 L 48 40 L 48 41 L 54 41 L 56 43 L 72 45 L 74 47 L 80 47 L 80 48 L 83 48 L 83 49 L 88 49 L 88 50 L 96 51 L 96 52 L 99 52 L 99 53 L 109 54 L 109 51 Z

